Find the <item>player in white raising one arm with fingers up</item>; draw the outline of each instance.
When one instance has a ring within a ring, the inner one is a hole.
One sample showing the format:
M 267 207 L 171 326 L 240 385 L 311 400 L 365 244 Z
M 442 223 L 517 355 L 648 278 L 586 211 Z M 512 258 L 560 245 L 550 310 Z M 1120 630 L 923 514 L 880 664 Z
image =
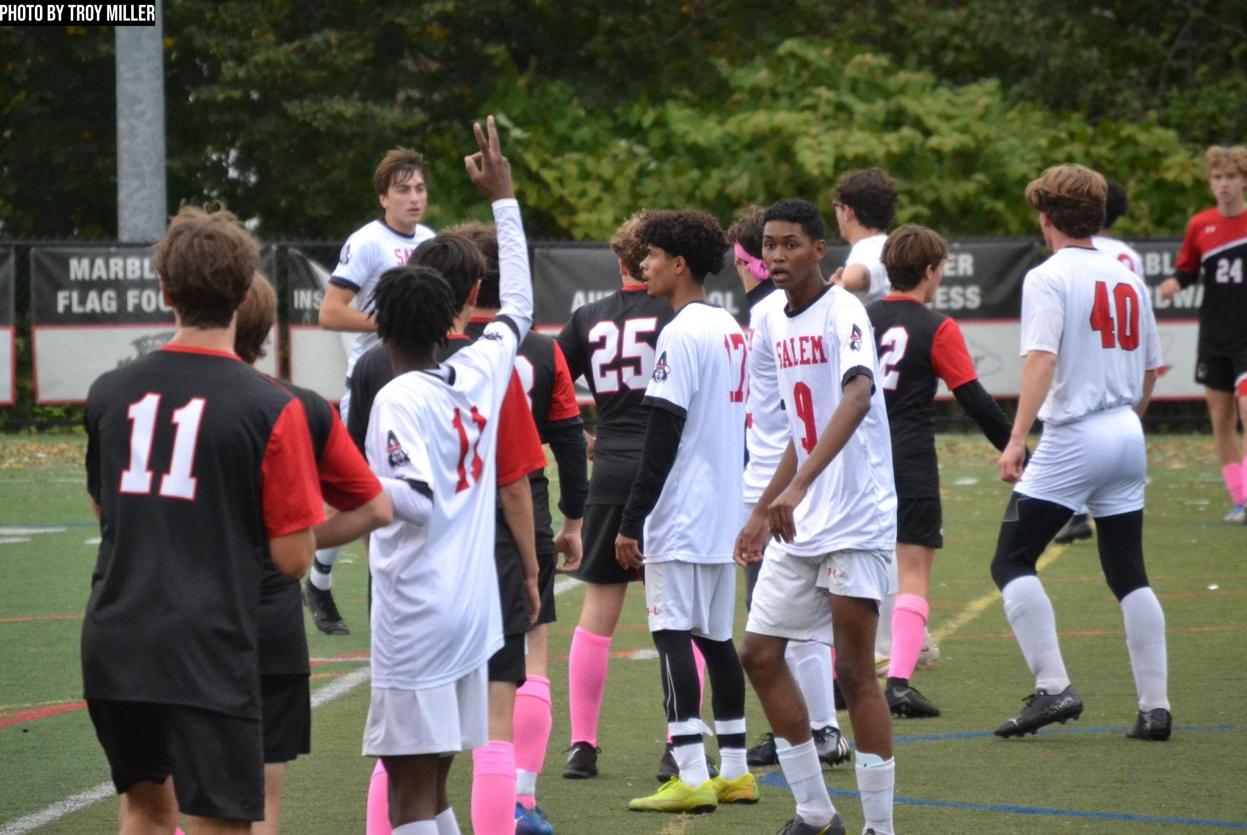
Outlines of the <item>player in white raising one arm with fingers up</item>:
M 493 118 L 465 160 L 493 202 L 501 313 L 473 345 L 434 360 L 454 323 L 436 270 L 388 272 L 375 292 L 379 333 L 397 376 L 377 395 L 367 450 L 395 505 L 374 532 L 373 692 L 363 753 L 389 774 L 394 835 L 458 833 L 438 813 L 454 754 L 485 745 L 488 662 L 503 646 L 494 568 L 498 415 L 532 322 L 532 288 L 510 168 Z

